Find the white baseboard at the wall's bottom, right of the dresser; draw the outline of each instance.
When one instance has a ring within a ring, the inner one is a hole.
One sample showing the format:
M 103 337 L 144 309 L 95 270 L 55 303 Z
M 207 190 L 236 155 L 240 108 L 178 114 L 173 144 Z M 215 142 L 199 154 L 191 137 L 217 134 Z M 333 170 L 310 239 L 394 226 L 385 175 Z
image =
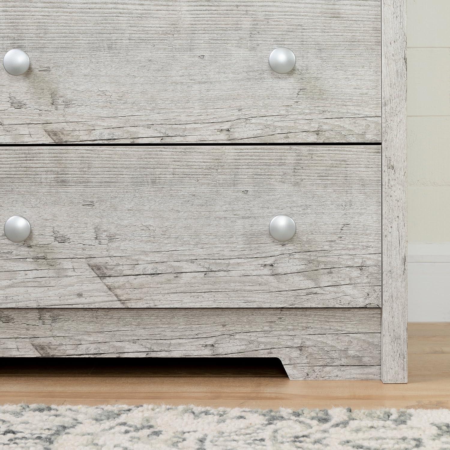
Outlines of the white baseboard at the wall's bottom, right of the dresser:
M 450 321 L 450 243 L 408 244 L 408 320 Z

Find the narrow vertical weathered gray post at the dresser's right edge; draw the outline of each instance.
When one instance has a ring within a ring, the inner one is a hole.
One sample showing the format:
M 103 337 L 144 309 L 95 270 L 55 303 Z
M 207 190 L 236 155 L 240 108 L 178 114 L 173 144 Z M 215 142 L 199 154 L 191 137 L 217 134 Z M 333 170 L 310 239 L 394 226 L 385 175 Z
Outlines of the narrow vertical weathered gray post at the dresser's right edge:
M 383 0 L 382 380 L 406 383 L 406 2 Z

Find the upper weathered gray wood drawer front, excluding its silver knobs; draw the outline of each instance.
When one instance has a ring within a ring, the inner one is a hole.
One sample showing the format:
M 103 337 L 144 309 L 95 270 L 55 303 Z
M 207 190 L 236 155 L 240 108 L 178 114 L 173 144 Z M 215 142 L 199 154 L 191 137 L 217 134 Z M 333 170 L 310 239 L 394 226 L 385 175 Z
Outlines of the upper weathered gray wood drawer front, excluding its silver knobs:
M 380 142 L 380 0 L 3 0 L 0 142 Z M 293 50 L 277 74 L 273 49 Z

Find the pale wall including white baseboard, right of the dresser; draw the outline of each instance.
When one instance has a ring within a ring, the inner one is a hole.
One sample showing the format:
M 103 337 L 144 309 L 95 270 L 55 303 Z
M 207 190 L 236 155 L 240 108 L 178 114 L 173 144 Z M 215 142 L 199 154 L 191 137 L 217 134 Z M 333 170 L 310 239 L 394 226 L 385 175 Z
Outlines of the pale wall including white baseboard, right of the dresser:
M 450 321 L 450 0 L 407 19 L 409 320 Z

